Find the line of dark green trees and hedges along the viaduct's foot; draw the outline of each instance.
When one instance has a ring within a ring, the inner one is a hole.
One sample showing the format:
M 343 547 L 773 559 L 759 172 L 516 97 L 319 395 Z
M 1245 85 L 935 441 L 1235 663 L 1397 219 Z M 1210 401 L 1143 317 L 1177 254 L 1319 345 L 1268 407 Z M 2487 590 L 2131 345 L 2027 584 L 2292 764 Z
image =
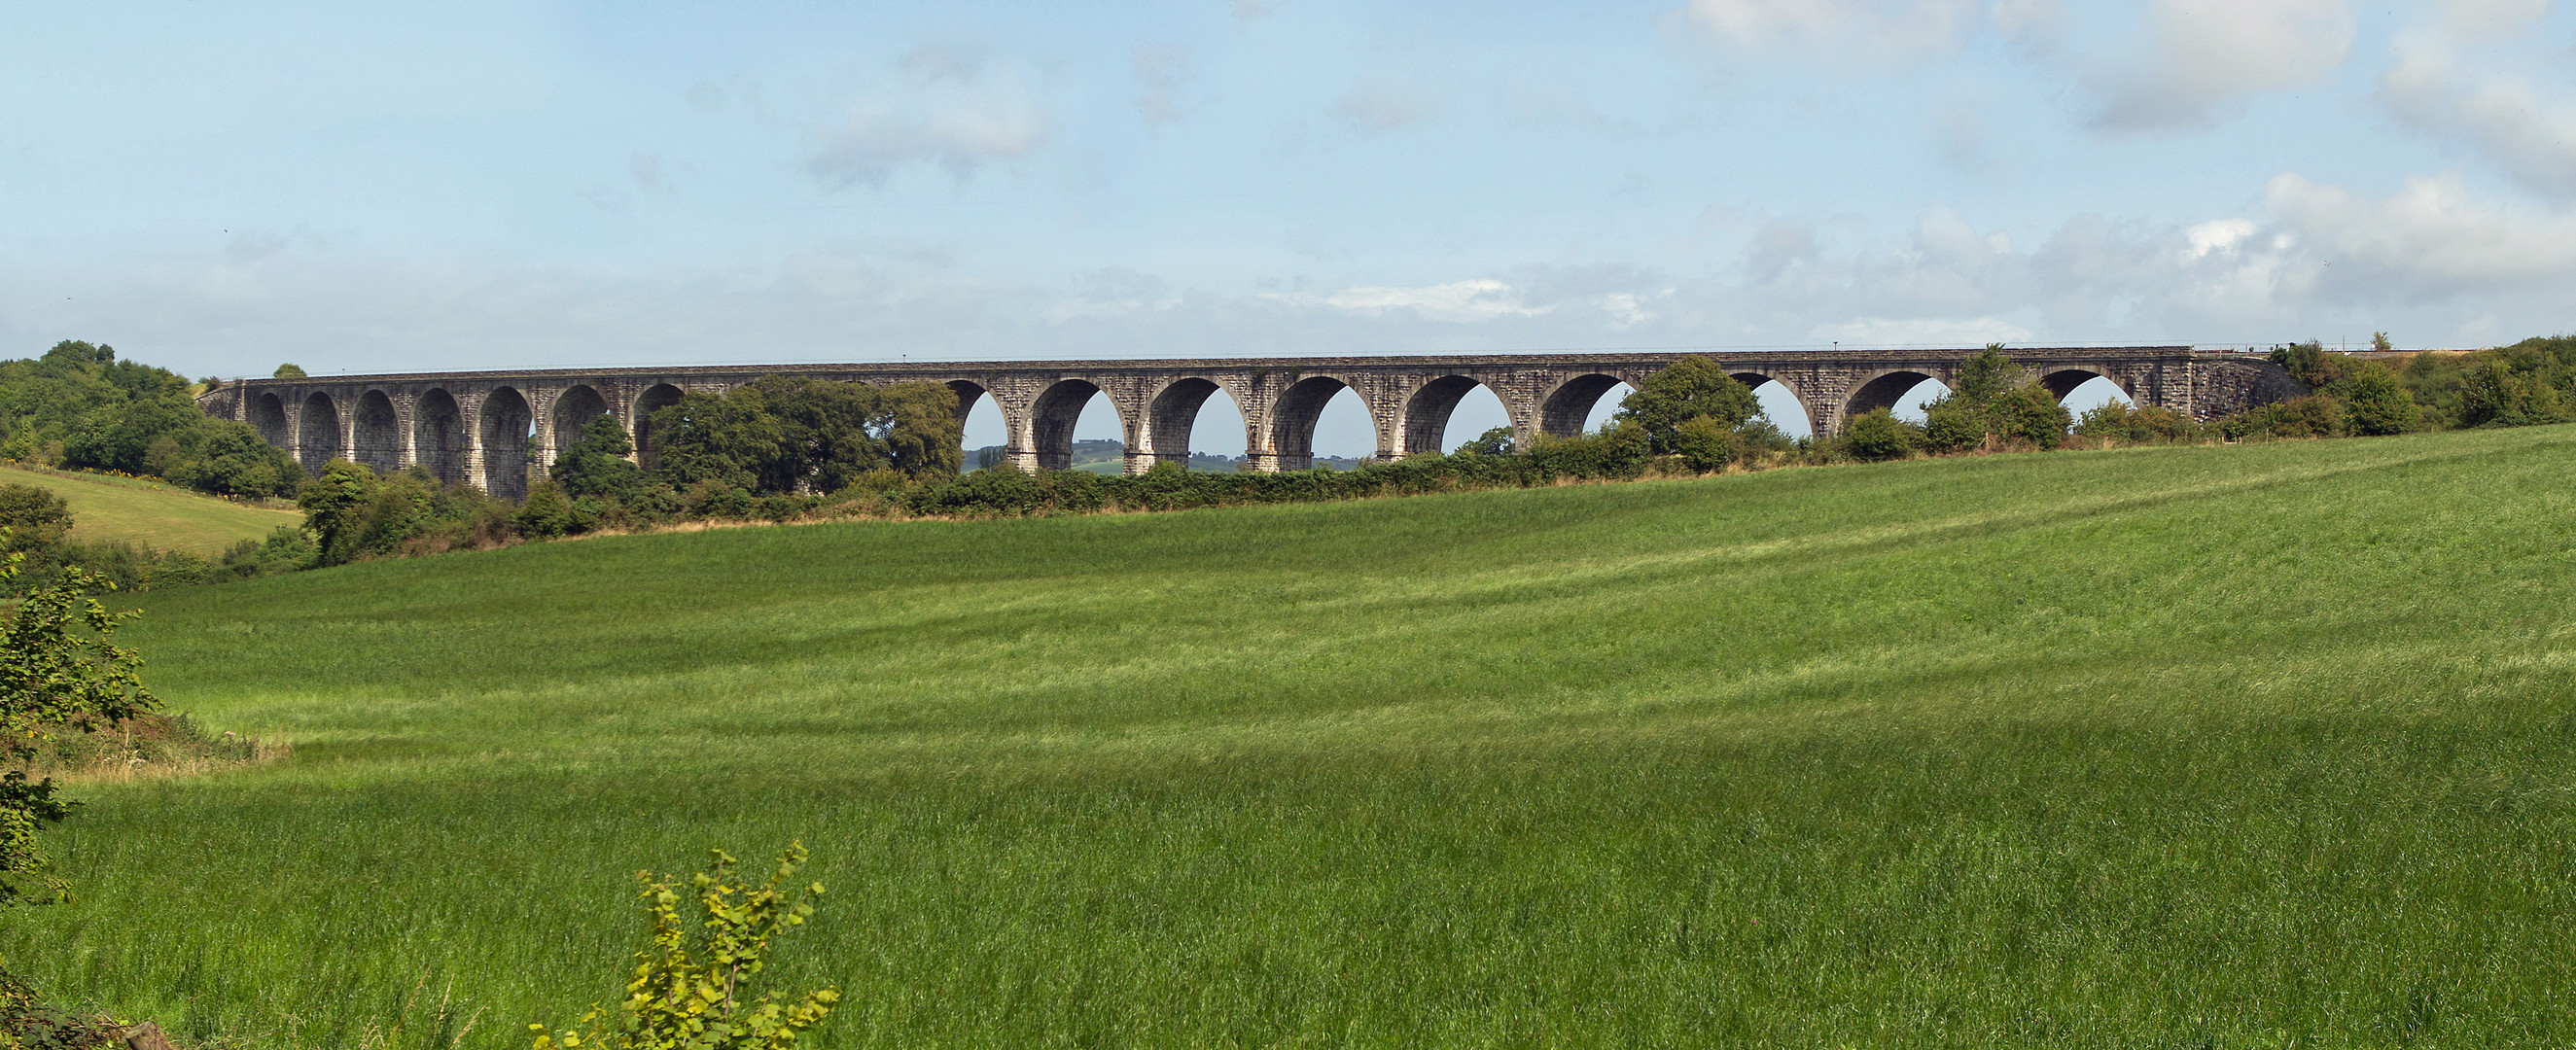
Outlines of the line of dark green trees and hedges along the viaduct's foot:
M 2269 360 L 2311 389 L 2223 419 L 2102 404 L 2071 417 L 1989 345 L 1922 422 L 1865 412 L 1832 438 L 1788 438 L 1752 389 L 1690 355 L 1649 376 L 1597 432 L 1515 440 L 1492 430 L 1448 456 L 1363 461 L 1355 471 L 1211 474 L 1162 466 L 1144 476 L 1084 471 L 963 471 L 956 394 L 940 383 L 868 386 L 770 376 L 724 394 L 688 394 L 652 412 L 649 466 L 626 427 L 592 419 L 520 502 L 440 484 L 425 468 L 379 474 L 335 461 L 304 479 L 296 461 L 240 422 L 209 419 L 165 368 L 59 342 L 39 360 L 0 363 L 0 456 L 67 468 L 157 474 L 214 494 L 289 494 L 307 530 L 245 543 L 219 558 L 137 548 L 77 548 L 39 494 L 0 494 L 0 525 L 33 566 L 85 564 L 126 587 L 242 579 L 294 566 L 487 548 L 688 520 L 989 517 L 1090 510 L 1182 510 L 1257 502 L 1623 481 L 1904 456 L 2050 450 L 2138 443 L 2347 438 L 2450 427 L 2576 422 L 2576 337 L 2478 353 L 2365 360 L 2318 342 Z M 291 365 L 281 365 L 281 373 Z M 36 489 L 28 489 L 36 492 Z M 57 499 L 59 502 L 59 499 Z

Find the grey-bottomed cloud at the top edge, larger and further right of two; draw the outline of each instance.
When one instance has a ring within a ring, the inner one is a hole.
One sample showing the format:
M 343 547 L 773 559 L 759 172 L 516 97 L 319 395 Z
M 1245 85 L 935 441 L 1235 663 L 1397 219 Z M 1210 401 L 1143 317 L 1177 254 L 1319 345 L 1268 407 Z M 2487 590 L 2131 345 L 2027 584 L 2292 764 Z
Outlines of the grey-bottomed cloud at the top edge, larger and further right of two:
M 2352 57 L 2352 36 L 2344 0 L 2156 0 L 2148 46 L 2087 77 L 2102 98 L 2094 126 L 2205 126 L 2244 95 L 2324 80 Z

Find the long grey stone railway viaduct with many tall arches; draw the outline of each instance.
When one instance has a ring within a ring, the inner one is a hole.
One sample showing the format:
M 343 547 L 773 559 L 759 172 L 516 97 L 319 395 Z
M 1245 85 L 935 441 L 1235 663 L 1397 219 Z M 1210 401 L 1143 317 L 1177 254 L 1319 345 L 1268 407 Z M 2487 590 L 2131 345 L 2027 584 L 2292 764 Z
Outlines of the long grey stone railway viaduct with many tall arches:
M 1973 350 L 1710 353 L 1747 386 L 1780 383 L 1798 396 L 1819 435 L 1893 407 L 1927 378 L 1955 383 Z M 2306 389 L 2254 355 L 2192 347 L 2009 350 L 2040 383 L 2066 396 L 2102 376 L 2136 404 L 2213 419 Z M 1595 401 L 1636 386 L 1682 353 L 1419 355 L 1419 358 L 1216 358 L 1216 360 L 981 360 L 878 365 L 647 365 L 531 368 L 471 373 L 384 373 L 245 378 L 198 396 L 224 419 L 260 430 L 309 471 L 337 458 L 376 468 L 428 466 L 446 481 L 471 481 L 520 497 L 554 450 L 585 422 L 616 417 L 652 463 L 649 414 L 685 391 L 726 391 L 760 376 L 811 376 L 860 383 L 945 383 L 958 414 L 992 396 L 1007 427 L 1007 453 L 1023 468 L 1072 463 L 1074 419 L 1108 394 L 1126 432 L 1128 474 L 1190 458 L 1190 425 L 1211 394 L 1226 391 L 1244 417 L 1247 468 L 1301 471 L 1314 463 L 1314 422 L 1340 391 L 1368 407 L 1378 458 L 1440 448 L 1450 409 L 1476 386 L 1494 391 L 1512 432 L 1574 435 Z

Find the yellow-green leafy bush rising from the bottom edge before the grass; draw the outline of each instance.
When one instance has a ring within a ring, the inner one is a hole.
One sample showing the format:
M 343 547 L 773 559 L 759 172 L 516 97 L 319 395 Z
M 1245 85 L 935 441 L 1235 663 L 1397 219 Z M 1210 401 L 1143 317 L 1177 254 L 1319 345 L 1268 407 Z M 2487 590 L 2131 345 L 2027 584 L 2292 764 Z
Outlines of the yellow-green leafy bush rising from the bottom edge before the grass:
M 618 1029 L 592 1027 L 585 1037 L 574 1029 L 531 1024 L 536 1050 L 786 1050 L 796 1045 L 799 1032 L 822 1024 L 840 1001 L 835 988 L 809 991 L 793 1006 L 778 1001 L 775 991 L 752 999 L 755 978 L 768 970 L 770 942 L 811 919 L 814 898 L 822 896 L 822 883 L 809 883 L 804 893 L 791 890 L 788 880 L 806 860 L 804 842 L 781 849 L 768 883 L 757 888 L 734 880 L 732 854 L 724 849 L 708 854 L 716 870 L 688 880 L 696 914 L 683 908 L 670 875 L 657 880 L 636 872 L 644 880 L 652 944 L 636 952 Z M 590 1006 L 580 1024 L 603 1019 L 608 1011 Z

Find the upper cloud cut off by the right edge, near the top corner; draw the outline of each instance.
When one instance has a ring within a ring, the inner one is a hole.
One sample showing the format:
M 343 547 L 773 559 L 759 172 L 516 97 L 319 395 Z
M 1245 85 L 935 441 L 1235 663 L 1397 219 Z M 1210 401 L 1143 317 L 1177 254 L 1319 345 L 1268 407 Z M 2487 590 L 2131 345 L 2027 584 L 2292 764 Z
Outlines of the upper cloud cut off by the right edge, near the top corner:
M 2470 72 L 2439 44 L 2401 49 L 2380 72 L 2380 100 L 2406 126 L 2468 144 L 2517 183 L 2576 196 L 2576 106 L 2514 75 Z

